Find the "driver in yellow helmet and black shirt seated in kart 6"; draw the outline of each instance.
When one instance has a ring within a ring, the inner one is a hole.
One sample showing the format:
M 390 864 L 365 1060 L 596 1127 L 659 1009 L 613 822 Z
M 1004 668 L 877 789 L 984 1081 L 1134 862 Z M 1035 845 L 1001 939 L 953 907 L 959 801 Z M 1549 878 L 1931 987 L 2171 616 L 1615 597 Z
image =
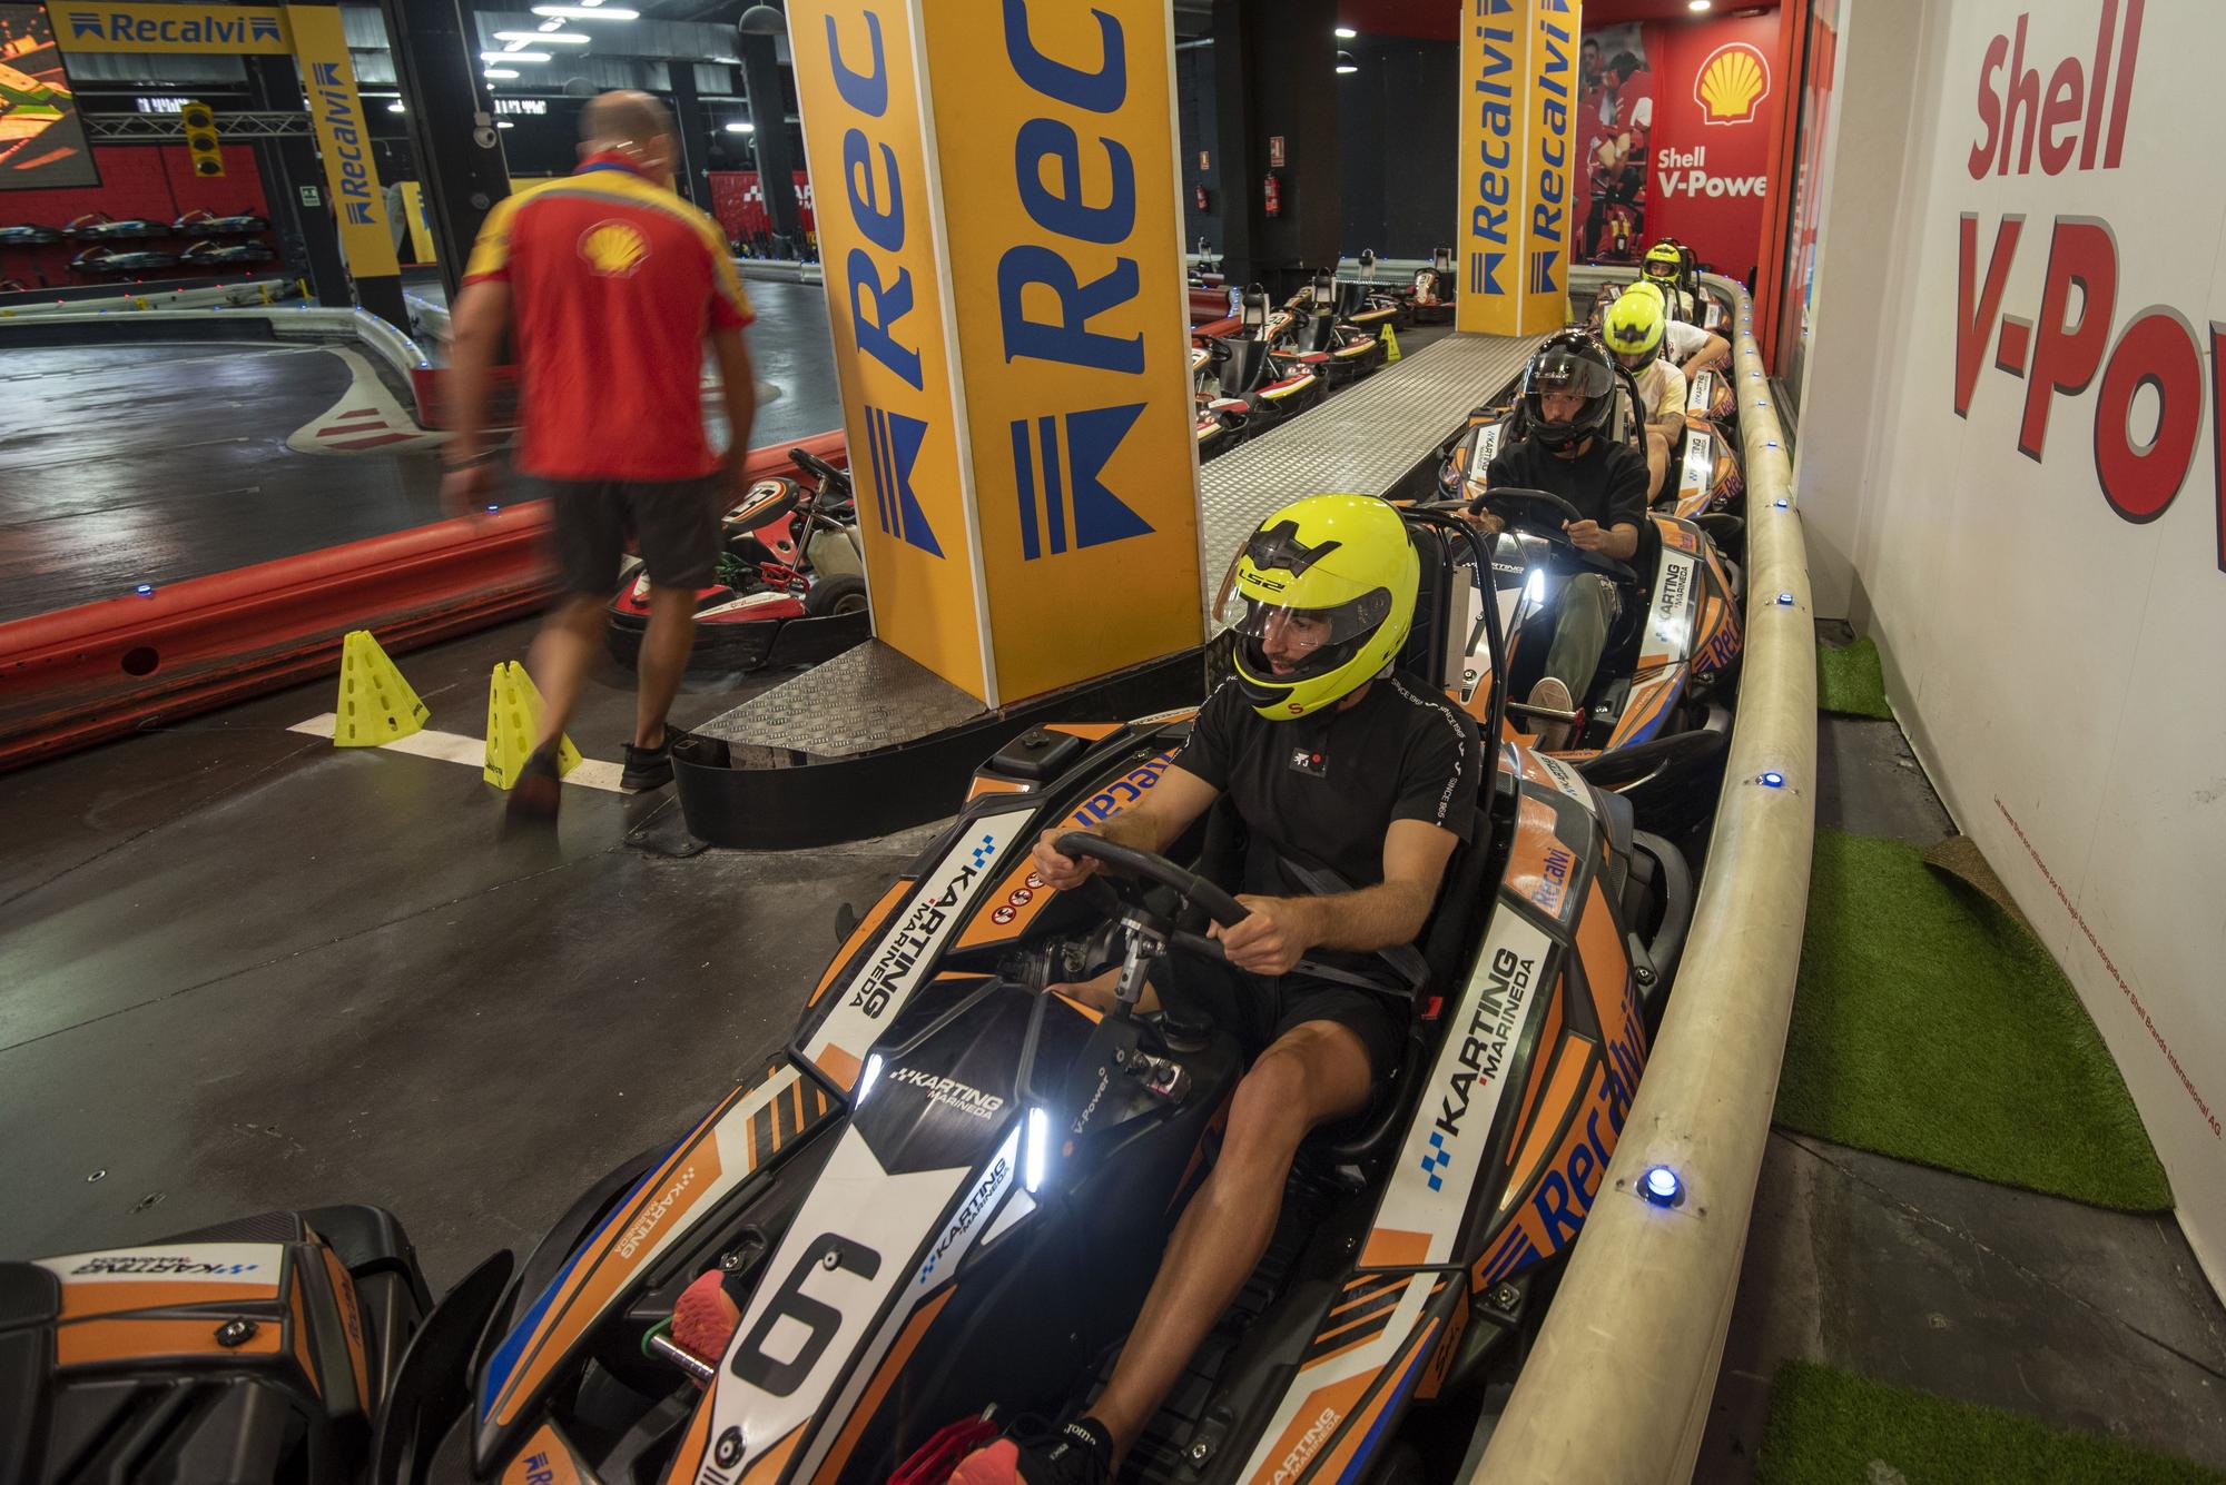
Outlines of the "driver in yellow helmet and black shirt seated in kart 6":
M 1365 974 L 1378 949 L 1414 943 L 1476 814 L 1476 722 L 1393 671 L 1418 582 L 1405 520 L 1371 496 L 1309 496 L 1260 522 L 1224 587 L 1224 605 L 1231 594 L 1244 605 L 1235 674 L 1158 787 L 1097 827 L 1164 851 L 1229 796 L 1249 834 L 1238 903 L 1251 916 L 1213 929 L 1227 965 L 1186 956 L 1173 989 L 1231 1029 L 1251 1065 L 1106 1389 L 1053 1434 L 977 1449 L 953 1485 L 1111 1481 L 1267 1252 L 1298 1143 L 1365 1109 L 1398 1065 L 1405 1027 L 1389 1000 L 1309 969 Z M 1035 847 L 1035 869 L 1060 889 L 1097 867 L 1060 854 L 1066 829 Z M 1284 863 L 1351 889 L 1311 896 Z M 1062 989 L 1102 1003 L 1109 985 Z

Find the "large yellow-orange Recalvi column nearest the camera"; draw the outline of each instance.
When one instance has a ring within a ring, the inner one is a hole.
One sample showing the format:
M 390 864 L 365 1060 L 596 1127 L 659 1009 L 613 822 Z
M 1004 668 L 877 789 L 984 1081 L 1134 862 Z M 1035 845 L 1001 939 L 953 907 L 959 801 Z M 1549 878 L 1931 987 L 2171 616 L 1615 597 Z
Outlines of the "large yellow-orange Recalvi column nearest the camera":
M 986 705 L 1198 645 L 1169 9 L 788 27 L 875 634 Z

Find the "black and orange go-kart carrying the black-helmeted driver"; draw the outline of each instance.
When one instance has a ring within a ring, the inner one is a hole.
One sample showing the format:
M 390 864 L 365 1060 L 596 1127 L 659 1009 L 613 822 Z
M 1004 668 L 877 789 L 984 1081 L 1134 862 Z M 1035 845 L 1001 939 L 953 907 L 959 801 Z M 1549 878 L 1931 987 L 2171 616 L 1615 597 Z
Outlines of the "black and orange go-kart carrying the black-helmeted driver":
M 1638 393 L 1623 376 L 1623 407 L 1609 436 L 1636 442 Z M 1741 540 L 1741 520 L 1705 509 L 1685 516 L 1656 502 L 1641 527 L 1629 562 L 1578 551 L 1563 536 L 1576 511 L 1547 491 L 1491 489 L 1487 471 L 1505 438 L 1523 436 L 1520 405 L 1514 411 L 1478 409 L 1451 440 L 1438 467 L 1438 498 L 1469 511 L 1491 511 L 1507 529 L 1491 554 L 1496 627 L 1507 634 L 1511 696 L 1507 711 L 1527 736 L 1549 722 L 1574 731 L 1556 756 L 1600 789 L 1627 796 L 1652 829 L 1678 834 L 1714 809 L 1716 783 L 1730 742 L 1730 696 L 1745 651 L 1741 625 L 1743 574 L 1727 554 Z M 1714 447 L 1732 458 L 1730 440 L 1710 425 L 1707 445 L 1687 429 L 1687 462 L 1696 449 Z M 1732 460 L 1736 478 L 1736 460 Z M 1705 502 L 1703 502 L 1705 505 Z M 1487 589 L 1483 565 L 1471 569 L 1471 602 L 1480 609 Z M 1592 571 L 1616 585 L 1616 618 L 1592 689 L 1574 698 L 1569 716 L 1538 714 L 1525 698 L 1545 676 L 1558 605 L 1569 578 Z M 1483 620 L 1471 616 L 1469 687 L 1485 671 Z M 1471 705 L 1474 696 L 1465 696 Z

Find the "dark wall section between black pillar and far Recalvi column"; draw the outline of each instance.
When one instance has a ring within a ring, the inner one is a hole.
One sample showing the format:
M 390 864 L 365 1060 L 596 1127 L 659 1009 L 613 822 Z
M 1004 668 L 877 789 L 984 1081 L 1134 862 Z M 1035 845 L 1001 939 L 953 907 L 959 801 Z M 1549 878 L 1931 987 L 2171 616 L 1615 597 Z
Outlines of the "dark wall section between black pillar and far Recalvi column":
M 1460 47 L 1400 36 L 1338 44 L 1360 69 L 1338 78 L 1342 247 L 1429 258 L 1454 240 L 1458 211 Z

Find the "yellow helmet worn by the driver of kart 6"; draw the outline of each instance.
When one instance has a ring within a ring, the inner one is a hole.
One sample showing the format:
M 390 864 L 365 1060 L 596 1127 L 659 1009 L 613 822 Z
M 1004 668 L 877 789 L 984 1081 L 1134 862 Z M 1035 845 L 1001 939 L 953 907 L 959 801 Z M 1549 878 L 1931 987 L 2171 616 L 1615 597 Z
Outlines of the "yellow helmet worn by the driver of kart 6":
M 1358 691 L 1407 642 L 1420 582 L 1407 522 L 1376 496 L 1307 496 L 1262 520 L 1215 605 L 1220 618 L 1231 594 L 1244 600 L 1231 625 L 1244 700 L 1287 722 Z

